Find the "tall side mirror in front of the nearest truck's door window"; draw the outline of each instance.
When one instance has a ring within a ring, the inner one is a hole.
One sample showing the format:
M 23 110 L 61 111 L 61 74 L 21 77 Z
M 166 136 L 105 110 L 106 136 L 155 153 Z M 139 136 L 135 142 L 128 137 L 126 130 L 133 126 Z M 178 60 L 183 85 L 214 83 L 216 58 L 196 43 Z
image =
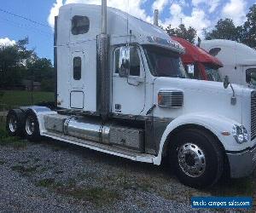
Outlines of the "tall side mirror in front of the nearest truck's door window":
M 130 47 L 122 47 L 119 56 L 119 77 L 126 78 L 130 72 Z

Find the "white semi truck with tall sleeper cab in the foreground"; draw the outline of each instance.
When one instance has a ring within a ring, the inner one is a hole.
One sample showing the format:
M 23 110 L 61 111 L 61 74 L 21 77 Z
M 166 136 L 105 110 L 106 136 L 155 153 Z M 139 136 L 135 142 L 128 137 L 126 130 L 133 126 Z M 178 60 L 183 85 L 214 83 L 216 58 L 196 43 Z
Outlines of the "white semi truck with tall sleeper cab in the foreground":
M 102 2 L 102 9 L 61 7 L 57 108 L 10 110 L 9 134 L 31 141 L 46 136 L 156 165 L 167 157 L 192 187 L 212 185 L 224 171 L 249 176 L 256 164 L 256 91 L 238 85 L 233 91 L 227 78 L 185 78 L 179 43 Z

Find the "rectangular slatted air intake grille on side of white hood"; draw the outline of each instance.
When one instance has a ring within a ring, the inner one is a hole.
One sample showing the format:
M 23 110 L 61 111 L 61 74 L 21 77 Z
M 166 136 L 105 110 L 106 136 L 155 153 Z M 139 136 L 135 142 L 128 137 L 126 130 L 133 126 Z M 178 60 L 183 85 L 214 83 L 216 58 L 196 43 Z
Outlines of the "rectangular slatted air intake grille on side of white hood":
M 158 105 L 160 107 L 183 107 L 183 91 L 160 90 L 158 93 Z

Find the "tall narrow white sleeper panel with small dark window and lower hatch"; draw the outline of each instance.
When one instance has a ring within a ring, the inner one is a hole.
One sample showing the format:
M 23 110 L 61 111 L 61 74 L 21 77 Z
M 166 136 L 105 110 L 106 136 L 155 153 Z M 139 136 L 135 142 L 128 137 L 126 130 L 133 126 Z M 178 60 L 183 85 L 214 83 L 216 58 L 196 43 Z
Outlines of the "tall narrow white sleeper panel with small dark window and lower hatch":
M 70 59 L 70 107 L 84 108 L 84 52 L 73 52 Z

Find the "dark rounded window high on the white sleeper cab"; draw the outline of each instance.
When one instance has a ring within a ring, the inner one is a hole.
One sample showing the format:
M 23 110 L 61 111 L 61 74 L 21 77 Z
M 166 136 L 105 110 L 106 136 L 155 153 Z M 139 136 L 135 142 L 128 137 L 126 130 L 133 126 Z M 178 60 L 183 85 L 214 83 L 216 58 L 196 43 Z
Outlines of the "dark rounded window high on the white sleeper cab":
M 89 32 L 90 20 L 87 16 L 75 15 L 72 19 L 72 34 L 79 35 Z

